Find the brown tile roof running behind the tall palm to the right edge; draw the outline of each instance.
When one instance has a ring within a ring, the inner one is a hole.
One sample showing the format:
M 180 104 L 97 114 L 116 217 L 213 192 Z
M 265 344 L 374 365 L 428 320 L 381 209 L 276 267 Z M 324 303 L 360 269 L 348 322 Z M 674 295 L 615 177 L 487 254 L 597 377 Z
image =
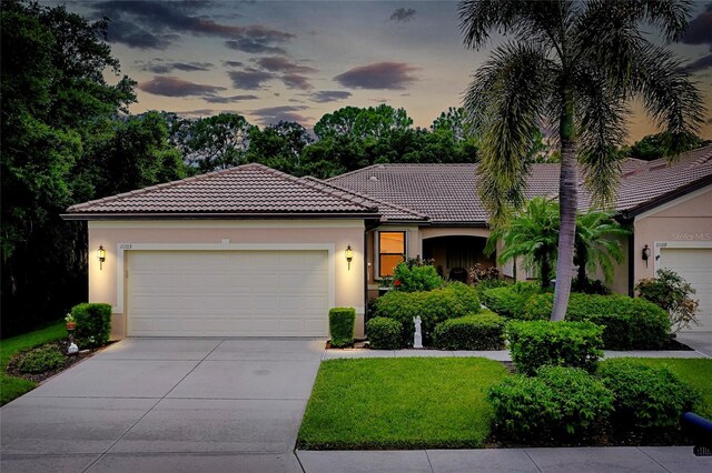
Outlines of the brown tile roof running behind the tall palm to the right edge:
M 690 151 L 672 165 L 665 160 L 621 162 L 616 210 L 630 211 L 680 192 L 708 179 L 712 181 L 712 145 Z M 527 198 L 558 194 L 558 164 L 533 164 Z M 375 164 L 328 179 L 329 184 L 395 203 L 427 215 L 433 223 L 485 224 L 487 214 L 475 191 L 477 164 Z M 580 208 L 590 205 L 581 189 Z

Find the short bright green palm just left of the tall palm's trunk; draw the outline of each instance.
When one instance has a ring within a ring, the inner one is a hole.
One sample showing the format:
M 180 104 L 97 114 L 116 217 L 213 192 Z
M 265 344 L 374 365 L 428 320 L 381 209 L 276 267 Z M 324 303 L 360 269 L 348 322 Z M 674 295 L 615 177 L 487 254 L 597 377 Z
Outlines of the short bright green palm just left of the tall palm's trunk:
M 492 254 L 497 241 L 503 249 L 497 255 L 501 264 L 524 256 L 527 269 L 538 270 L 542 288 L 548 288 L 558 242 L 558 203 L 534 198 L 523 210 L 514 213 L 506 225 L 493 230 L 487 239 L 485 253 Z

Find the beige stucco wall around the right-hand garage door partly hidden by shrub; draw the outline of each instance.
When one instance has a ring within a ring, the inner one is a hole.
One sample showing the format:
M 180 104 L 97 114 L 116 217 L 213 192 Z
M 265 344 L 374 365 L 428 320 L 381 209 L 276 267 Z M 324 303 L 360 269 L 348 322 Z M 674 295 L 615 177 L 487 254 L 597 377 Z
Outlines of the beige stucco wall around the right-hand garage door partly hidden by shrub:
M 655 275 L 655 253 L 662 245 L 694 248 L 712 242 L 712 185 L 637 215 L 634 229 L 634 283 L 637 283 Z M 641 258 L 645 244 L 651 250 L 647 265 Z

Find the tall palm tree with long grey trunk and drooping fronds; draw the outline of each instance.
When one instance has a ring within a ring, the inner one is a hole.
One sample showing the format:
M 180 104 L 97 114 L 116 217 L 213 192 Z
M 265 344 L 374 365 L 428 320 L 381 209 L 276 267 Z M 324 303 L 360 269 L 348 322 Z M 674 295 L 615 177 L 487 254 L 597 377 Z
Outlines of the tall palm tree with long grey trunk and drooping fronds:
M 563 320 L 573 275 L 578 167 L 594 203 L 613 201 L 620 173 L 614 150 L 625 139 L 626 104 L 639 97 L 672 149 L 698 131 L 703 108 L 688 73 L 641 28 L 669 41 L 688 26 L 689 0 L 466 0 L 459 18 L 468 48 L 491 31 L 497 47 L 465 92 L 481 137 L 478 190 L 496 227 L 524 201 L 531 137 L 554 128 L 561 145 L 561 232 L 552 320 Z

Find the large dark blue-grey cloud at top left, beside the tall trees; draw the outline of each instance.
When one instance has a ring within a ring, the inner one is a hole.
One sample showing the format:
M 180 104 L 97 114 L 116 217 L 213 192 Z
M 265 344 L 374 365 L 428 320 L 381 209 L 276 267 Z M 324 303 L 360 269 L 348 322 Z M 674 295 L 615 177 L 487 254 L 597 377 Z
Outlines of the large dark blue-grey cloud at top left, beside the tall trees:
M 181 33 L 225 38 L 235 42 L 261 44 L 287 43 L 294 34 L 261 24 L 238 26 L 218 23 L 198 12 L 209 2 L 109 0 L 93 3 L 96 18 L 110 18 L 108 40 L 131 48 L 166 49 Z M 169 34 L 172 34 L 169 36 Z M 281 49 L 281 48 L 280 48 Z

